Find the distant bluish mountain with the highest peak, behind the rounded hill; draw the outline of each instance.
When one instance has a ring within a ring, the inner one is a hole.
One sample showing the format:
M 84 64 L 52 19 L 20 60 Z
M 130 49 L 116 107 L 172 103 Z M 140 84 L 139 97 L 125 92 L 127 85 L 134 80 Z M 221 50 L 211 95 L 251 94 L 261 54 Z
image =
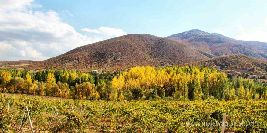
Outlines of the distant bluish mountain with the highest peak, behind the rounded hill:
M 245 54 L 267 61 L 267 43 L 264 42 L 235 40 L 221 34 L 210 34 L 198 29 L 173 34 L 166 38 L 186 44 L 209 58 Z

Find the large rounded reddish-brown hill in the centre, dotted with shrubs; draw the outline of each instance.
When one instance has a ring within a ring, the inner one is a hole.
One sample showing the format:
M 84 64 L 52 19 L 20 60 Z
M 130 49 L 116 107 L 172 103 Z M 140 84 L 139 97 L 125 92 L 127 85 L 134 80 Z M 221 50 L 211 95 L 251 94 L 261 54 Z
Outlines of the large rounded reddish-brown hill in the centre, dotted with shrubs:
M 149 34 L 128 34 L 70 50 L 25 69 L 129 69 L 133 66 L 172 66 L 207 60 L 207 56 L 177 41 Z

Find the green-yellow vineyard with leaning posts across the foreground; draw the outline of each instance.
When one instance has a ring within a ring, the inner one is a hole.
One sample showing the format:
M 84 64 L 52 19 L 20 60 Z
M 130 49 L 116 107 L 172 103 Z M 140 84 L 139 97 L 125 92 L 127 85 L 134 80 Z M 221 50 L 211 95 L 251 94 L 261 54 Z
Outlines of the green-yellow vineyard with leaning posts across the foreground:
M 267 131 L 265 100 L 113 102 L 18 94 L 4 97 L 3 93 L 0 98 L 0 132 L 18 132 L 26 106 L 29 112 L 25 112 L 19 132 L 31 132 L 29 117 L 34 132 L 221 132 L 221 125 L 188 125 L 207 122 L 207 111 L 209 122 L 222 122 L 224 113 L 226 122 L 242 122 L 242 126 L 225 125 L 225 132 Z M 51 121 L 54 108 L 57 111 Z M 257 125 L 246 125 L 246 122 Z

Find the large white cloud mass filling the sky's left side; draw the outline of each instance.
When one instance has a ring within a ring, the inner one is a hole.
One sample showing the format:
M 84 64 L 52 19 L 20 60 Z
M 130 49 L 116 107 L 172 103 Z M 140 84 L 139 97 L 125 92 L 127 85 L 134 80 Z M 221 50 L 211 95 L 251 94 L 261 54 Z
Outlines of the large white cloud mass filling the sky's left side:
M 46 60 L 82 45 L 126 34 L 109 27 L 81 34 L 62 22 L 57 12 L 40 7 L 33 0 L 0 1 L 0 60 Z

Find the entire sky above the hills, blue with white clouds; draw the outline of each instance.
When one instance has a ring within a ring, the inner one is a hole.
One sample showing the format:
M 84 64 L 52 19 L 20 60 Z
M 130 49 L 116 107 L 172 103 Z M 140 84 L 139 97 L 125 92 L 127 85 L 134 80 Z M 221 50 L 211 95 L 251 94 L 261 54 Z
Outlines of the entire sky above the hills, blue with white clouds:
M 267 42 L 266 0 L 1 0 L 0 60 L 46 60 L 126 34 L 191 29 Z

